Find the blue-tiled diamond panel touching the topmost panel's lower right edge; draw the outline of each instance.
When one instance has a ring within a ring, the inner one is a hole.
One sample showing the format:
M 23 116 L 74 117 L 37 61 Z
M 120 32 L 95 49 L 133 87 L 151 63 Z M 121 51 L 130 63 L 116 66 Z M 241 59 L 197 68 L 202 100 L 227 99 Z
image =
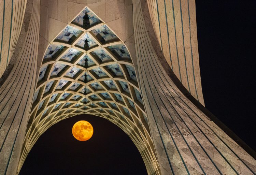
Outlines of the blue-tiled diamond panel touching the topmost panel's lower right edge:
M 102 44 L 119 40 L 117 36 L 106 25 L 100 26 L 97 29 L 92 30 L 91 32 L 96 36 L 98 40 L 100 40 Z

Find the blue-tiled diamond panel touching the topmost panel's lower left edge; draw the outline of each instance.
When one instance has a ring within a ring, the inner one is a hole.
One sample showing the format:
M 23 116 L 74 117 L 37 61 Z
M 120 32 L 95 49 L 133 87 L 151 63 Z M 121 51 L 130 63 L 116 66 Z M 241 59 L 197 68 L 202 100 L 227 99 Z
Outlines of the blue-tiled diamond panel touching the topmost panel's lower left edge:
M 82 30 L 79 30 L 72 26 L 67 26 L 60 34 L 55 38 L 55 41 L 72 43 L 78 35 L 82 33 Z

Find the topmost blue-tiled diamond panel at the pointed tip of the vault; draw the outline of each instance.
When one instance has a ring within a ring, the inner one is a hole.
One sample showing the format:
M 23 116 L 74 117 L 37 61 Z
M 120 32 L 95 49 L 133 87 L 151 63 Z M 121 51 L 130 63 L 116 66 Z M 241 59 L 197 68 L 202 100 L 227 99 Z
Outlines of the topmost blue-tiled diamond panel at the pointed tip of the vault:
M 88 8 L 85 8 L 73 21 L 73 24 L 76 24 L 80 27 L 88 29 L 96 24 L 101 23 L 101 20 Z

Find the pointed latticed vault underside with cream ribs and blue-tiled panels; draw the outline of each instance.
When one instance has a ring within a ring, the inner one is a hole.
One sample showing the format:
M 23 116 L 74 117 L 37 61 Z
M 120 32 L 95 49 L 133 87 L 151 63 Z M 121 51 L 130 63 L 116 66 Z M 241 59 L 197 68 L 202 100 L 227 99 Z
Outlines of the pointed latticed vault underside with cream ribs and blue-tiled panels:
M 18 172 L 39 136 L 78 114 L 110 120 L 141 152 L 149 174 L 159 174 L 145 108 L 125 44 L 86 7 L 45 51 Z

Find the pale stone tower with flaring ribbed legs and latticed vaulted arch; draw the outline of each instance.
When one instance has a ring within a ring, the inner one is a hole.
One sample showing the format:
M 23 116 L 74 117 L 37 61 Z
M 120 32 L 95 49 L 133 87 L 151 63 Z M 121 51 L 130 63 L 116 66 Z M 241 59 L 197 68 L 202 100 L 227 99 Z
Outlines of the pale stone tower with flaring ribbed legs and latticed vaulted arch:
M 92 114 L 129 135 L 148 175 L 255 175 L 255 152 L 204 108 L 195 9 L 1 0 L 0 174 L 58 121 Z

